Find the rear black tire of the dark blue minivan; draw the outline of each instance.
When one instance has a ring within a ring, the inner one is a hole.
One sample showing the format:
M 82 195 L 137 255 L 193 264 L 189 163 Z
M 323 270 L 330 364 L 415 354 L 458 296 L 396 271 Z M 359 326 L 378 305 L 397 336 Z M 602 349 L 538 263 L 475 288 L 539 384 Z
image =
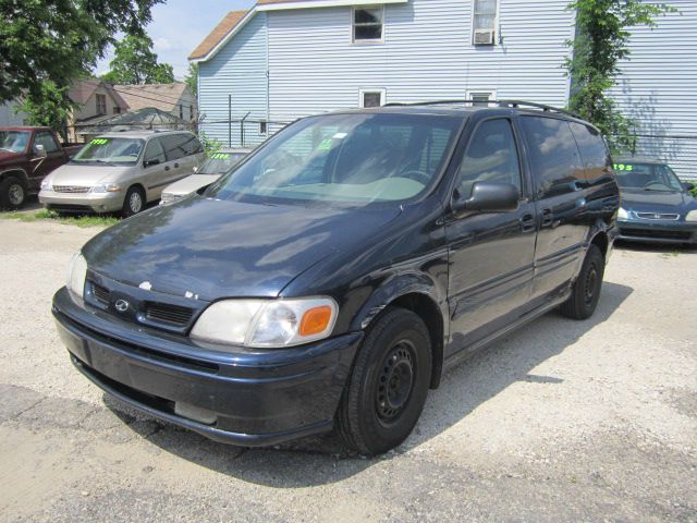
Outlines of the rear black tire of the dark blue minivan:
M 596 245 L 590 245 L 572 294 L 560 307 L 560 312 L 573 319 L 587 319 L 598 306 L 606 259 Z

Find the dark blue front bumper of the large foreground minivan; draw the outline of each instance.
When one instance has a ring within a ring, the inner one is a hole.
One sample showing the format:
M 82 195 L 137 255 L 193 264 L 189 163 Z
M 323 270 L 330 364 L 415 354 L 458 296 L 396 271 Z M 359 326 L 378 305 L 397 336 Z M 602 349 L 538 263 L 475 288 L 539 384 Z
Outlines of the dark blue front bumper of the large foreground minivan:
M 63 288 L 53 316 L 73 364 L 111 396 L 216 441 L 276 445 L 328 431 L 363 335 L 223 353 L 86 308 Z

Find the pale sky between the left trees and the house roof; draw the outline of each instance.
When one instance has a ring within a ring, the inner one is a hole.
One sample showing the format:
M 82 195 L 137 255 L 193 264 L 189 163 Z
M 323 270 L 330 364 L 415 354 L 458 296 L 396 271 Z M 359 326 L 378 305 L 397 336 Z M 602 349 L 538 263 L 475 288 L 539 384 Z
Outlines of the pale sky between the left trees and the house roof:
M 159 62 L 171 63 L 174 76 L 183 80 L 186 57 L 229 11 L 249 9 L 255 0 L 168 0 L 152 9 L 147 33 Z M 109 71 L 111 53 L 97 64 L 97 75 Z

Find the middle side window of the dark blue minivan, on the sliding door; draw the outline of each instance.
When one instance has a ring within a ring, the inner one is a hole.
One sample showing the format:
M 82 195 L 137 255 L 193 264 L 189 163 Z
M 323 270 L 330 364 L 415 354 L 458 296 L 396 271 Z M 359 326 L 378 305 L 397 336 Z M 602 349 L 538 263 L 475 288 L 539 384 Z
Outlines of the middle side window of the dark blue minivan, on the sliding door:
M 582 161 L 568 122 L 553 118 L 522 117 L 530 151 L 530 167 L 540 197 L 576 191 Z

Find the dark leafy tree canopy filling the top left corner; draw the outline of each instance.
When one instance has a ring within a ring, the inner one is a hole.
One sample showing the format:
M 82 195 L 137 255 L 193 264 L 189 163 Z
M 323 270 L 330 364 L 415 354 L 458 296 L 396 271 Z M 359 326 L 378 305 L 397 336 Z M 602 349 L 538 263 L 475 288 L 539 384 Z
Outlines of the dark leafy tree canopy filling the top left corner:
M 0 0 L 0 102 L 40 104 L 56 88 L 69 108 L 64 88 L 95 68 L 114 34 L 143 34 L 162 1 Z

